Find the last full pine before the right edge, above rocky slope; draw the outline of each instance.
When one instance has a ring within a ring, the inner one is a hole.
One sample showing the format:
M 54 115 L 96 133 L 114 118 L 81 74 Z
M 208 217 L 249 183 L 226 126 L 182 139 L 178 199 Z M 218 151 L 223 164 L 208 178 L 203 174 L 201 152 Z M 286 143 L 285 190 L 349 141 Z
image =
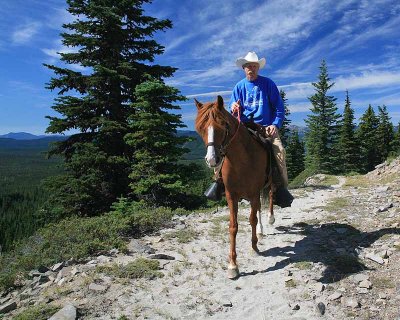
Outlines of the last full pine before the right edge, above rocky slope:
M 394 139 L 394 128 L 390 121 L 385 105 L 378 106 L 378 127 L 376 129 L 378 161 L 382 163 L 391 151 L 391 142 Z

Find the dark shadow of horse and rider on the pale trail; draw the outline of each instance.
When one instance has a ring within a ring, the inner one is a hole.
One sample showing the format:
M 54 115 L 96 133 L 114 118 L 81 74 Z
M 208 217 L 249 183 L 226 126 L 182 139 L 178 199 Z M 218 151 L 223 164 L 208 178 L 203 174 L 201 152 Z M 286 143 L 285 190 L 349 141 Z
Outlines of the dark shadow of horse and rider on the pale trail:
M 312 262 L 322 263 L 325 266 L 318 281 L 333 283 L 368 269 L 358 258 L 362 248 L 370 247 L 386 234 L 400 234 L 400 228 L 363 232 L 342 223 L 322 225 L 297 223 L 290 227 L 277 227 L 276 229 L 286 234 L 305 235 L 305 238 L 297 241 L 294 246 L 275 247 L 260 252 L 260 255 L 264 257 L 286 257 L 286 259 L 266 270 L 242 273 L 241 276 L 283 269 L 292 263 Z

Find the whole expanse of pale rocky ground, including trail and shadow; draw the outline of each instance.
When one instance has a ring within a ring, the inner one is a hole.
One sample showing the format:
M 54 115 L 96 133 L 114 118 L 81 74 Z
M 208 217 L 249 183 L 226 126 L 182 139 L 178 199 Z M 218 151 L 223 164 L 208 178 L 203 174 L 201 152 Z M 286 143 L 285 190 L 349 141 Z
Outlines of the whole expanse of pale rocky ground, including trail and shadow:
M 32 271 L 2 293 L 0 313 L 55 305 L 64 308 L 51 319 L 400 319 L 400 159 L 365 176 L 317 175 L 293 193 L 274 226 L 264 222 L 259 254 L 241 205 L 237 280 L 227 278 L 228 210 L 219 208 L 132 239 L 129 254 Z M 115 271 L 140 257 L 159 270 Z

